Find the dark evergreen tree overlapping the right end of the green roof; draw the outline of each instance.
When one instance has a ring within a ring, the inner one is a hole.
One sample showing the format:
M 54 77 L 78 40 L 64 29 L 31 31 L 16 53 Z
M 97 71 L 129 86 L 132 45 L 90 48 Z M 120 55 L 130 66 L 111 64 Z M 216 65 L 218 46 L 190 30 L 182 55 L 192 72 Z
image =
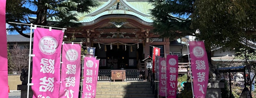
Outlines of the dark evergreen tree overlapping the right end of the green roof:
M 151 9 L 154 22 L 154 32 L 167 37 L 180 38 L 192 35 L 195 30 L 190 29 L 193 3 L 195 0 L 150 0 L 154 6 Z

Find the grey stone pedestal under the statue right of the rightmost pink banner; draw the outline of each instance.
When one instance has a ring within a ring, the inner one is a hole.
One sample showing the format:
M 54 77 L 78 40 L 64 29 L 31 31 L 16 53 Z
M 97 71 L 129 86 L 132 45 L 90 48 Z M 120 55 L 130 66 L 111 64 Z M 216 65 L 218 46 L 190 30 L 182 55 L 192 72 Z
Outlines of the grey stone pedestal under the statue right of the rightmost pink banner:
M 221 88 L 224 88 L 224 83 L 208 83 L 205 98 L 221 98 Z

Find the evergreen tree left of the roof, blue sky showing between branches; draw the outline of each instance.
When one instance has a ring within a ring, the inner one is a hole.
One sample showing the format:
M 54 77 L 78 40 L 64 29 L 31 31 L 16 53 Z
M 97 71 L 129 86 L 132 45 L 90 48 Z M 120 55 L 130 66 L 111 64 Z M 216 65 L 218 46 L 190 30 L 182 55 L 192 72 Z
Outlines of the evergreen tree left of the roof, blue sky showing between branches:
M 29 5 L 29 7 L 25 6 Z M 36 24 L 53 27 L 78 27 L 78 13 L 89 13 L 92 7 L 99 6 L 97 0 L 7 0 L 6 22 Z M 31 16 L 36 16 L 31 18 Z M 9 31 L 17 31 L 24 37 L 29 25 L 10 24 Z

